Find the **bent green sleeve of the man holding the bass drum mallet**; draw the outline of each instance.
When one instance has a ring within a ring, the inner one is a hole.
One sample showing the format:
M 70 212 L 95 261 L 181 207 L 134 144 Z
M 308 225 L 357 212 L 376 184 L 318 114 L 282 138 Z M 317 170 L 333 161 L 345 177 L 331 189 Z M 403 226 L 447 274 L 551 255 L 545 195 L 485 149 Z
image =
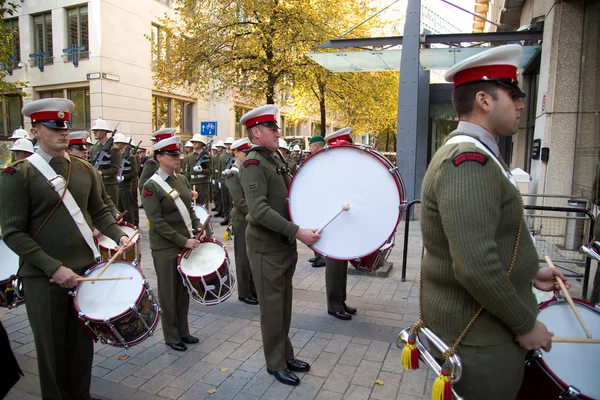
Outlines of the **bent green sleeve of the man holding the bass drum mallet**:
M 260 165 L 241 168 L 240 181 L 248 203 L 248 214 L 257 224 L 283 236 L 294 237 L 298 232 L 298 225 L 283 218 L 267 202 L 269 176 L 269 171 Z

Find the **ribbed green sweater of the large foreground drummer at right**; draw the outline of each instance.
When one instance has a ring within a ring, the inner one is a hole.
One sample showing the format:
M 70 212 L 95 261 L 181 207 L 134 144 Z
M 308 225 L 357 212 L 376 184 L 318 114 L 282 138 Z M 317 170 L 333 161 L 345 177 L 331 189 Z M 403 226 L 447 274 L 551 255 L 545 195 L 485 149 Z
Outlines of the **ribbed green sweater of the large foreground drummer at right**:
M 478 139 L 500 159 L 493 136 L 482 127 L 461 121 L 448 138 L 458 134 Z M 473 143 L 436 152 L 421 200 L 423 318 L 429 328 L 453 343 L 483 306 L 465 345 L 510 343 L 533 329 L 532 280 L 539 262 L 525 222 L 514 269 L 506 275 L 523 219 L 519 191 L 490 154 Z

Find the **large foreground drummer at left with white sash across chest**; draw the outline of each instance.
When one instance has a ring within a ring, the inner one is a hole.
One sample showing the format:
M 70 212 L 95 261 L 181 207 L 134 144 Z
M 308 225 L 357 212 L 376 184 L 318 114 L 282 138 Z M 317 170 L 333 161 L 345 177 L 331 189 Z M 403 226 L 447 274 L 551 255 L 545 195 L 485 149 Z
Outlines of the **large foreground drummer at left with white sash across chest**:
M 69 291 L 100 257 L 90 224 L 116 243 L 128 241 L 100 198 L 97 172 L 65 153 L 74 108 L 67 99 L 26 104 L 22 113 L 31 118 L 39 149 L 0 179 L 0 204 L 10 204 L 0 207 L 0 225 L 4 242 L 21 258 L 44 399 L 92 399 L 94 346 Z

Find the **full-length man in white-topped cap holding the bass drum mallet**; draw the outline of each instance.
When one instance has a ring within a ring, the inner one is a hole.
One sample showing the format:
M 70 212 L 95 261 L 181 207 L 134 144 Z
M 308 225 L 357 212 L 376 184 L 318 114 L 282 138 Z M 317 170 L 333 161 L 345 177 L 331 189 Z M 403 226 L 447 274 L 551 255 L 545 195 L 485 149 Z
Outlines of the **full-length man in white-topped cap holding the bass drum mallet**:
M 286 198 L 290 177 L 279 149 L 277 106 L 265 105 L 244 114 L 253 144 L 240 168 L 240 181 L 248 203 L 246 250 L 260 303 L 260 325 L 267 372 L 286 385 L 298 385 L 293 371 L 310 365 L 294 358 L 289 338 L 292 320 L 292 277 L 298 261 L 296 239 L 312 245 L 317 229 L 290 222 Z

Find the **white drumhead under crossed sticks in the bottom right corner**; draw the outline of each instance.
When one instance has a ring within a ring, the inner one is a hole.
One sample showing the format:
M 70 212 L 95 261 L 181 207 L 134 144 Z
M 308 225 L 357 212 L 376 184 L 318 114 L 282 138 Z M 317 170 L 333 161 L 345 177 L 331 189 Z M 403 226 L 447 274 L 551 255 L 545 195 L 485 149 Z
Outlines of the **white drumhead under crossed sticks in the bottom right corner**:
M 581 303 L 575 303 L 581 318 L 594 338 L 600 337 L 600 312 Z M 585 332 L 575 313 L 566 301 L 554 301 L 543 308 L 538 321 L 557 337 L 585 338 Z M 552 343 L 549 353 L 542 351 L 542 359 L 552 373 L 569 386 L 576 387 L 582 394 L 600 399 L 598 360 L 600 346 L 597 344 Z

